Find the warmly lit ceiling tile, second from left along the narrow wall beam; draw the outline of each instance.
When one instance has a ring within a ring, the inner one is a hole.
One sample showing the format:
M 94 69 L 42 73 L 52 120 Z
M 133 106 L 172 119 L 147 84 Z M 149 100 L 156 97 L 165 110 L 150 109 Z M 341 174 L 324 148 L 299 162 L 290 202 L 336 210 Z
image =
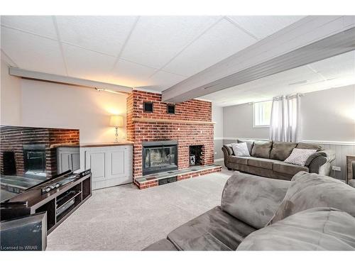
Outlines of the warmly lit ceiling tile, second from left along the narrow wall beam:
M 65 62 L 70 77 L 107 82 L 115 57 L 63 44 Z

